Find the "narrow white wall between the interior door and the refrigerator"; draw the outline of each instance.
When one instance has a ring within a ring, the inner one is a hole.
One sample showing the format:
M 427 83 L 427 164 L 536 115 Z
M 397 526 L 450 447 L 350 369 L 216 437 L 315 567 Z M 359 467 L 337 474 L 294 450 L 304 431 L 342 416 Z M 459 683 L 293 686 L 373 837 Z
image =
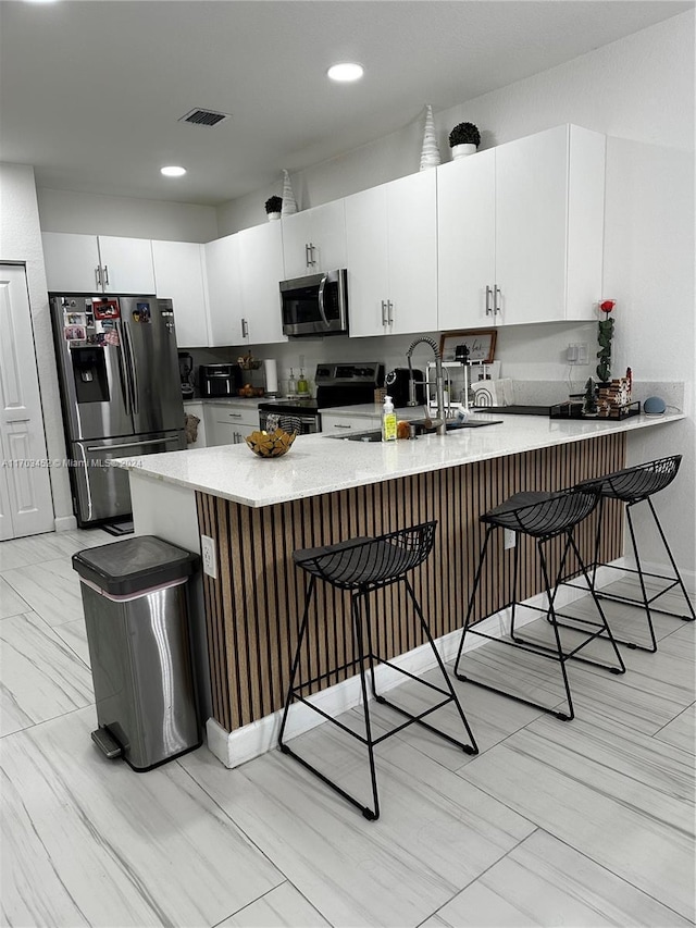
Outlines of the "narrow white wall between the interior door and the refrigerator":
M 66 457 L 58 372 L 48 307 L 41 231 L 36 202 L 34 169 L 0 162 L 0 260 L 23 261 L 29 288 L 46 445 L 50 459 Z M 51 468 L 55 519 L 61 528 L 74 525 L 70 481 L 65 468 Z M 66 520 L 61 523 L 59 520 Z

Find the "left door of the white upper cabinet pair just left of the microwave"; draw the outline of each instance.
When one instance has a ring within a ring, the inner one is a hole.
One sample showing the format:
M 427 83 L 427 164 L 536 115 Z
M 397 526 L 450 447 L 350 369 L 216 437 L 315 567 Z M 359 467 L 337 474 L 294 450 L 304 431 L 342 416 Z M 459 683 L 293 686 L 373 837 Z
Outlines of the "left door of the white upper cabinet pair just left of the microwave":
M 239 283 L 239 240 L 226 235 L 206 245 L 210 345 L 241 345 L 241 287 Z

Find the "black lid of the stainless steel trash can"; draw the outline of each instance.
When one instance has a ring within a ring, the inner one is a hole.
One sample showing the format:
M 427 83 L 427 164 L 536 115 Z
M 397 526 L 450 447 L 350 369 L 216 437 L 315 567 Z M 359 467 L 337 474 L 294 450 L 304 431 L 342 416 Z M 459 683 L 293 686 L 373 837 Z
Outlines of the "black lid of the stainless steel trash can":
M 197 554 L 156 535 L 136 535 L 73 555 L 73 569 L 85 580 L 116 596 L 164 586 L 197 568 Z

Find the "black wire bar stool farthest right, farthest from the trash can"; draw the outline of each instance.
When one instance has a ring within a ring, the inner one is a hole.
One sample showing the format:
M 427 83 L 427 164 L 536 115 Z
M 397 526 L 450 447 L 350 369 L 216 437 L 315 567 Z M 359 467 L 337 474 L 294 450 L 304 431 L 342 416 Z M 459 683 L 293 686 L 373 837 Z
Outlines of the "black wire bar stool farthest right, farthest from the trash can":
M 619 644 L 625 644 L 629 647 L 638 648 L 639 651 L 648 651 L 651 654 L 655 654 L 655 652 L 657 651 L 657 640 L 655 638 L 655 628 L 652 626 L 652 613 L 658 613 L 663 616 L 672 616 L 676 619 L 683 619 L 684 621 L 689 622 L 693 622 L 694 619 L 696 619 L 694 606 L 688 597 L 686 587 L 684 586 L 684 582 L 679 572 L 679 568 L 676 567 L 676 562 L 674 561 L 674 557 L 672 556 L 672 552 L 670 550 L 670 546 L 667 542 L 667 537 L 662 530 L 662 525 L 660 524 L 660 520 L 657 517 L 657 512 L 655 511 L 655 506 L 652 505 L 651 499 L 651 497 L 656 493 L 659 493 L 660 490 L 664 490 L 664 487 L 669 486 L 670 483 L 674 480 L 679 471 L 681 461 L 681 455 L 673 455 L 668 458 L 659 458 L 655 461 L 648 461 L 647 463 L 637 465 L 636 467 L 630 467 L 625 468 L 624 470 L 618 470 L 614 471 L 614 473 L 608 473 L 605 477 L 597 478 L 596 480 L 584 481 L 582 484 L 580 484 L 580 487 L 599 494 L 597 534 L 595 537 L 595 558 L 594 564 L 592 565 L 593 586 L 595 586 L 597 568 L 600 566 L 610 568 L 611 570 L 620 570 L 625 573 L 637 573 L 641 582 L 641 599 L 631 596 L 623 596 L 618 593 L 610 593 L 605 590 L 596 590 L 596 595 L 601 599 L 611 599 L 617 603 L 627 603 L 632 606 L 643 606 L 643 608 L 645 609 L 648 631 L 650 634 L 650 645 L 636 644 L 635 642 L 622 641 L 621 639 L 617 639 L 617 641 L 619 642 Z M 629 523 L 629 533 L 631 534 L 631 544 L 633 546 L 633 554 L 636 562 L 635 568 L 617 567 L 616 565 L 611 564 L 601 565 L 599 562 L 602 515 L 605 502 L 607 499 L 619 499 L 622 503 L 626 504 L 626 521 Z M 674 571 L 673 577 L 662 573 L 649 573 L 648 571 L 643 570 L 643 566 L 641 564 L 641 556 L 638 554 L 638 543 L 636 540 L 633 519 L 631 516 L 631 510 L 638 503 L 647 503 L 650 508 L 655 524 L 657 525 L 660 539 L 662 540 L 662 544 L 664 545 L 664 550 L 667 552 L 667 556 L 669 557 L 670 564 L 672 565 L 672 570 Z M 655 580 L 668 580 L 671 582 L 663 590 L 659 590 L 657 593 L 649 596 L 645 585 L 646 578 L 652 578 Z M 569 585 L 576 584 L 570 583 Z M 659 599 L 660 596 L 663 596 L 667 592 L 673 590 L 674 586 L 679 586 L 681 589 L 682 594 L 684 596 L 684 602 L 686 603 L 688 609 L 688 615 L 671 613 L 668 609 L 658 609 L 652 606 L 652 603 L 655 603 L 656 599 Z

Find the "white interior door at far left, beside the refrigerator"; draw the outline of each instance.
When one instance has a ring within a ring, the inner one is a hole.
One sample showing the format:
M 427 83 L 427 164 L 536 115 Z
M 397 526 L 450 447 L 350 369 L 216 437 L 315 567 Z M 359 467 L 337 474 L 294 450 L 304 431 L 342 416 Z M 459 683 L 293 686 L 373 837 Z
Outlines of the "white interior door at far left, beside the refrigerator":
M 26 272 L 0 265 L 0 539 L 54 529 Z

